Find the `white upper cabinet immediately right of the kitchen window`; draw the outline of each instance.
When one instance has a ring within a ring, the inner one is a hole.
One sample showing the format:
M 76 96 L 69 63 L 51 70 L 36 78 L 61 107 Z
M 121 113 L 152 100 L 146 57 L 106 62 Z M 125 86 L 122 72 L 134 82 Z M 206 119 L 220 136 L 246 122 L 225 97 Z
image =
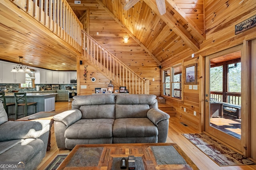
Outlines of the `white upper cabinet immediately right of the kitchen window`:
M 36 70 L 35 84 L 52 84 L 52 71 Z

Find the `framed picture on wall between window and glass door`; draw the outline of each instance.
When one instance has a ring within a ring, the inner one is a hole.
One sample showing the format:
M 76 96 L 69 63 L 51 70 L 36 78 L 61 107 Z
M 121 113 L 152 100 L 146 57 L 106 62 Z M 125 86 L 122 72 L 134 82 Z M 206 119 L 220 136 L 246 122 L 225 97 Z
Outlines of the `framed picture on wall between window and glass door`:
M 185 66 L 185 84 L 197 84 L 197 64 Z

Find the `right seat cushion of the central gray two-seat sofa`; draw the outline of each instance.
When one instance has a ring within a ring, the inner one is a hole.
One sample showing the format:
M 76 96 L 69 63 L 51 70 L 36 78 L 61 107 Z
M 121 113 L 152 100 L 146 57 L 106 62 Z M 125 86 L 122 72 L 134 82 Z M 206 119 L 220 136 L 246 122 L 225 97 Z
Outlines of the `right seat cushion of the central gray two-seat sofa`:
M 148 118 L 115 119 L 113 137 L 153 137 L 158 129 Z

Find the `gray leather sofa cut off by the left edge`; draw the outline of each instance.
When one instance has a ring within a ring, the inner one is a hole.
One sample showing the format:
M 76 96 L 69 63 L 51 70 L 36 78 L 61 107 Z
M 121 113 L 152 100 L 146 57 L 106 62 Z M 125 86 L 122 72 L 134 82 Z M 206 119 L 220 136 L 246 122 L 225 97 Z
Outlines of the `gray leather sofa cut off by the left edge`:
M 50 120 L 8 121 L 0 103 L 0 161 L 34 170 L 46 154 Z M 8 169 L 8 168 L 7 168 Z

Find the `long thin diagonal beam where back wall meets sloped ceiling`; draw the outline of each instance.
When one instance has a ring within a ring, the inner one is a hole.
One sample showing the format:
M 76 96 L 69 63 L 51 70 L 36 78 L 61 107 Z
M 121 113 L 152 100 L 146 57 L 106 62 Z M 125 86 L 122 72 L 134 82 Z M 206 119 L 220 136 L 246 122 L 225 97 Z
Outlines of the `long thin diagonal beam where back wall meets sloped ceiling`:
M 112 18 L 118 24 L 120 24 L 124 28 L 124 30 L 132 37 L 132 39 L 134 39 L 134 41 L 136 41 L 136 43 L 138 43 L 154 59 L 154 61 L 156 61 L 156 63 L 161 65 L 161 62 L 132 34 L 132 32 L 128 28 L 126 28 L 126 26 L 120 20 L 118 20 L 118 18 L 116 18 L 116 16 L 100 0 L 96 1 L 100 4 L 100 6 L 102 6 L 104 10 L 106 10 L 106 12 L 108 12 L 108 14 L 110 14 L 110 16 L 112 16 Z

